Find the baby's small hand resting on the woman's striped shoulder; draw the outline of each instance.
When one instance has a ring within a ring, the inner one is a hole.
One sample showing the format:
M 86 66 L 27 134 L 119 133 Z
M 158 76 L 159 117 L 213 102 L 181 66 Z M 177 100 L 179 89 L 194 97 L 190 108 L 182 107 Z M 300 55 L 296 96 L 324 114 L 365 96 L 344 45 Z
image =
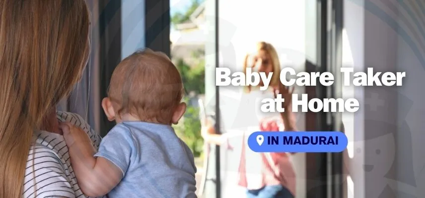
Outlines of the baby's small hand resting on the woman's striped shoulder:
M 75 127 L 69 122 L 60 123 L 59 128 L 61 128 L 64 133 L 65 142 L 67 143 L 68 148 L 71 148 L 75 144 L 91 144 L 88 134 L 81 128 Z

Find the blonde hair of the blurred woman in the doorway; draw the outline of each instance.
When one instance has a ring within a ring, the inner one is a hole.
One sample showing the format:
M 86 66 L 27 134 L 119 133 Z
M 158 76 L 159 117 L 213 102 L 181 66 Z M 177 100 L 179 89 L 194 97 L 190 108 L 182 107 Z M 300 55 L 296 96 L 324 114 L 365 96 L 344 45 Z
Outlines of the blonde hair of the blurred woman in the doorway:
M 276 49 L 273 47 L 272 44 L 261 41 L 257 43 L 257 48 L 256 51 L 259 52 L 261 50 L 264 50 L 267 52 L 267 54 L 270 55 L 270 58 L 272 59 L 272 65 L 273 65 L 273 76 L 272 79 L 270 81 L 270 85 L 271 87 L 275 87 L 278 86 L 280 83 L 280 75 L 281 75 L 281 63 L 279 61 L 279 56 L 278 56 L 278 52 L 276 51 Z M 246 68 L 248 67 L 248 58 L 249 58 L 250 54 L 247 53 L 245 55 L 245 60 L 243 63 L 243 72 L 246 74 Z M 247 92 L 251 91 L 251 86 L 247 86 L 246 89 Z

